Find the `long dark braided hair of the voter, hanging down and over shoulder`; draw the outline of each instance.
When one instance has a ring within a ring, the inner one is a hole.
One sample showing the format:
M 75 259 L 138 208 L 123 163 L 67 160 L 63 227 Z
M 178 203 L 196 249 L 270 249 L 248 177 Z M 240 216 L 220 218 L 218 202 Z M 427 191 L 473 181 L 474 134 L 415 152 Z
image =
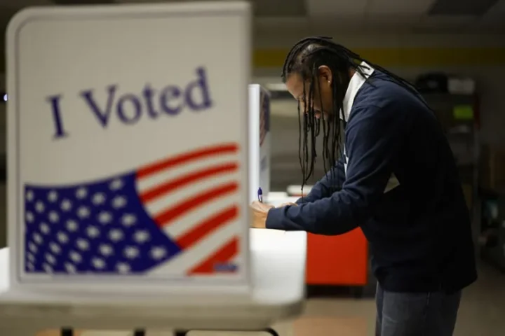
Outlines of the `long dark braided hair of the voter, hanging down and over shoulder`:
M 367 78 L 363 72 L 366 66 L 361 65 L 362 62 L 369 64 L 382 73 L 386 73 L 389 76 L 388 80 L 405 87 L 422 100 L 419 92 L 407 80 L 390 73 L 381 66 L 377 66 L 377 64 L 368 62 L 344 46 L 334 43 L 331 37 L 314 36 L 303 38 L 291 48 L 285 59 L 281 74 L 283 82 L 285 83 L 292 73 L 298 73 L 304 82 L 302 97 L 304 111 L 301 111 L 301 102 L 298 102 L 298 157 L 302 168 L 302 191 L 304 185 L 314 174 L 317 157 L 316 138 L 321 132 L 321 126 L 323 128 L 323 165 L 325 172 L 328 171 L 327 167 L 333 167 L 342 155 L 344 145 L 342 132 L 346 121 L 341 120 L 339 116 L 343 111 L 344 97 L 351 80 L 350 70 L 354 70 L 363 78 Z M 321 90 L 316 87 L 319 83 L 318 69 L 322 65 L 328 66 L 332 72 L 331 89 L 333 99 L 332 111 L 328 111 L 328 117 L 321 113 L 321 119 L 318 119 L 314 111 L 314 99 L 319 99 L 319 103 L 323 104 Z M 306 87 L 306 82 L 309 82 L 309 87 Z M 314 92 L 319 92 L 318 97 L 314 97 Z M 330 169 L 330 174 L 334 174 L 333 169 Z M 331 181 L 335 181 L 334 177 L 332 176 Z M 331 188 L 336 190 L 338 185 L 339 181 L 335 181 L 335 185 Z

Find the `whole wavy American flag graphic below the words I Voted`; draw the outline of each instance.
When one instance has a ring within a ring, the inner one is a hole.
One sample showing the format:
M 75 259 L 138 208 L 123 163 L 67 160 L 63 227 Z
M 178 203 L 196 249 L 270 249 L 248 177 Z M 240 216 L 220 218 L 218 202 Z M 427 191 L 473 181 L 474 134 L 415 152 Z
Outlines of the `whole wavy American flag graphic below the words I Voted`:
M 25 271 L 236 272 L 237 154 L 219 144 L 100 181 L 25 186 Z

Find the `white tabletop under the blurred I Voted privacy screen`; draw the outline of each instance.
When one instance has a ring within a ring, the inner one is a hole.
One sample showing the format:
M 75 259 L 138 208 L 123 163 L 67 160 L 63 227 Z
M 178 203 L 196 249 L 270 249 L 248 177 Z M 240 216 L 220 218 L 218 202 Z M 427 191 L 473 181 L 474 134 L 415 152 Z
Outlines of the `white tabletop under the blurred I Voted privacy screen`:
M 302 312 L 307 235 L 305 232 L 250 229 L 254 288 L 252 300 L 135 303 L 119 297 L 83 300 L 83 294 L 27 293 L 8 288 L 8 248 L 0 250 L 0 335 L 18 325 L 29 330 L 131 328 L 258 330 Z M 88 297 L 89 295 L 84 295 Z M 118 300 L 116 300 L 118 299 Z

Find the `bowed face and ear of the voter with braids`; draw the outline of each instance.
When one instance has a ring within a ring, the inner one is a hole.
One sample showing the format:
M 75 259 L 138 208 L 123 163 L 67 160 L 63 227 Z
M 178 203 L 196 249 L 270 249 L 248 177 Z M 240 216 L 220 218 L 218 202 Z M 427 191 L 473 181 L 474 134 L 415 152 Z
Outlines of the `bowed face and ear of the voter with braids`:
M 319 68 L 318 78 L 312 88 L 312 106 L 307 107 L 304 104 L 309 104 L 311 80 L 306 80 L 304 85 L 302 76 L 298 73 L 291 73 L 288 76 L 285 85 L 290 94 L 299 102 L 300 111 L 308 113 L 310 109 L 314 109 L 316 118 L 321 118 L 322 113 L 324 113 L 325 118 L 328 118 L 333 113 L 331 83 L 332 76 L 330 69 L 328 69 L 327 66 L 321 66 Z M 304 102 L 304 97 L 306 102 Z

